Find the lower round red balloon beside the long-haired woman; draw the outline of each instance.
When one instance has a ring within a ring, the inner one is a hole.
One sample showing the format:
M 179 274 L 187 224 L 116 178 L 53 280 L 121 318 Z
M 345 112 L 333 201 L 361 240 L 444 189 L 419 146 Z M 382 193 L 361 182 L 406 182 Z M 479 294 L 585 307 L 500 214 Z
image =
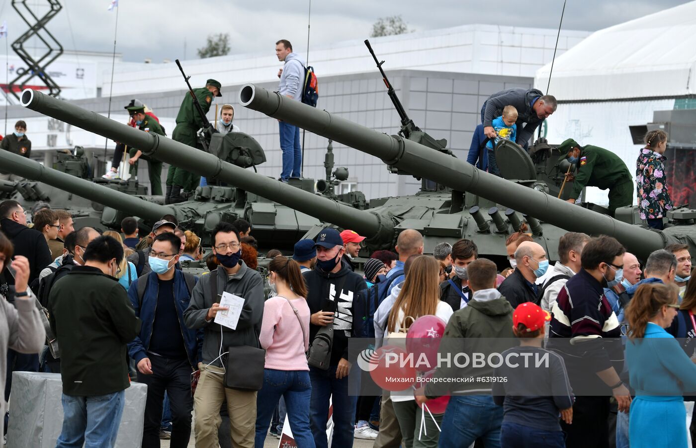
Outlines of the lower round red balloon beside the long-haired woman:
M 416 369 L 407 357 L 408 353 L 393 345 L 382 346 L 372 355 L 370 371 L 372 381 L 391 392 L 406 390 L 416 383 Z

